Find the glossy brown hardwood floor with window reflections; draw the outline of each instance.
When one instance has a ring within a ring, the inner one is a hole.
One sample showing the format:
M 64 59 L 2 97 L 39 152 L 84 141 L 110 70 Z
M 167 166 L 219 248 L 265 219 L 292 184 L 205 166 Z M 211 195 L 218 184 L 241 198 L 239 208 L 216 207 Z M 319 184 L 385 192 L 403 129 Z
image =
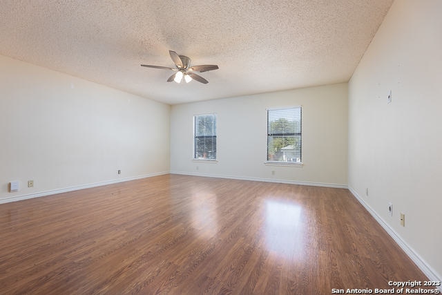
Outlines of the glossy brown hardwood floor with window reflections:
M 0 205 L 1 294 L 332 294 L 427 280 L 346 189 L 162 175 Z

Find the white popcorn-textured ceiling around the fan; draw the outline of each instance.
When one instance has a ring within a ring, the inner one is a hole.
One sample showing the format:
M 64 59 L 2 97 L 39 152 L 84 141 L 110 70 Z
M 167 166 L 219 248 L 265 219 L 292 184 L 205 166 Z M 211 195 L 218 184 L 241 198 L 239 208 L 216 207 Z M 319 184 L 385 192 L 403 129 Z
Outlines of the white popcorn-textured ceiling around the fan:
M 1 0 L 0 54 L 168 104 L 347 82 L 392 0 Z M 169 50 L 218 64 L 167 83 Z

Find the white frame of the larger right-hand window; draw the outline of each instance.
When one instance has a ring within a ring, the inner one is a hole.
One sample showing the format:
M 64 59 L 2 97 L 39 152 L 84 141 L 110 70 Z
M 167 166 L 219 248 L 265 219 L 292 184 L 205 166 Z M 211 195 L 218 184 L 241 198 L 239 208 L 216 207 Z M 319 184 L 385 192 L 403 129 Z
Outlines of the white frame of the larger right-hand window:
M 283 111 L 283 110 L 288 110 L 291 108 L 299 108 L 299 112 L 300 112 L 300 132 L 295 132 L 295 133 L 269 133 L 269 111 Z M 270 107 L 266 109 L 266 123 L 267 123 L 267 136 L 266 136 L 266 160 L 265 160 L 265 164 L 269 165 L 269 166 L 302 166 L 303 165 L 303 149 L 302 149 L 302 144 L 303 144 L 303 140 L 302 140 L 302 105 L 298 105 L 298 106 L 285 106 L 285 107 Z M 289 136 L 300 136 L 300 162 L 286 162 L 286 161 L 278 161 L 278 160 L 269 160 L 269 136 L 275 136 L 276 135 L 289 135 Z

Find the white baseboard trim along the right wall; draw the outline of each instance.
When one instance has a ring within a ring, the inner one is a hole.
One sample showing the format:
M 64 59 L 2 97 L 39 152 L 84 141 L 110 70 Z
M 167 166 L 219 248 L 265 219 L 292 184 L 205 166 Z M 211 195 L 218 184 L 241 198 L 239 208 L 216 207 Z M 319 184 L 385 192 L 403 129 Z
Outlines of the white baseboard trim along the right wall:
M 389 234 L 399 245 L 399 247 L 401 247 L 403 251 L 405 251 L 405 254 L 407 254 L 407 256 L 410 257 L 410 259 L 413 260 L 413 262 L 417 265 L 417 267 L 421 269 L 425 276 L 427 276 L 430 280 L 435 280 L 439 282 L 442 281 L 442 276 L 434 271 L 434 269 L 432 269 L 432 267 L 430 267 L 430 265 L 428 265 L 428 263 L 426 263 L 425 260 L 423 260 L 423 258 L 419 256 L 419 254 L 417 254 L 417 252 L 414 251 L 414 249 L 410 247 L 410 245 L 408 245 L 407 242 L 405 242 L 405 240 L 403 240 L 401 236 L 394 229 L 392 229 L 392 227 L 390 227 L 387 222 L 385 222 L 385 220 L 383 220 L 383 218 L 381 218 L 381 216 L 378 216 L 376 211 L 374 211 L 374 209 L 372 209 L 372 207 L 370 207 L 369 204 L 367 204 L 352 187 L 349 186 L 348 189 L 356 198 L 356 200 L 358 200 L 358 202 L 360 202 L 363 207 L 365 207 L 365 209 L 367 209 L 367 211 L 374 217 L 378 224 L 381 225 L 381 227 L 383 227 L 385 231 L 387 231 L 387 234 Z M 442 287 L 439 287 L 439 289 L 441 289 L 442 291 Z

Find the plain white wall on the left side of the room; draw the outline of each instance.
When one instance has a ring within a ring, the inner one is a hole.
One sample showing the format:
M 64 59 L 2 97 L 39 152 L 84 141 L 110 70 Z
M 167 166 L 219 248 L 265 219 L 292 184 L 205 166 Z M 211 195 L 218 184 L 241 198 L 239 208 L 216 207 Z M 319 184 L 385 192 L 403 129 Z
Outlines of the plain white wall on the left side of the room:
M 0 111 L 0 202 L 169 171 L 169 105 L 0 56 Z

